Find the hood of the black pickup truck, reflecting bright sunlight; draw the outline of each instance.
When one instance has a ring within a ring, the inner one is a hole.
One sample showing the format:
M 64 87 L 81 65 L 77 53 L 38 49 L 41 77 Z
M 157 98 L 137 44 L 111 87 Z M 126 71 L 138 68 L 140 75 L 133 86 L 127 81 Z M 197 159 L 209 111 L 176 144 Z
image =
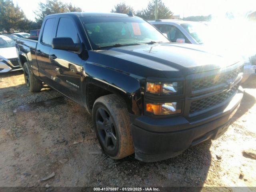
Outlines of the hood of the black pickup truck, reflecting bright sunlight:
M 225 68 L 240 61 L 228 54 L 192 44 L 163 43 L 101 50 L 103 54 L 131 60 L 162 71 L 200 71 Z

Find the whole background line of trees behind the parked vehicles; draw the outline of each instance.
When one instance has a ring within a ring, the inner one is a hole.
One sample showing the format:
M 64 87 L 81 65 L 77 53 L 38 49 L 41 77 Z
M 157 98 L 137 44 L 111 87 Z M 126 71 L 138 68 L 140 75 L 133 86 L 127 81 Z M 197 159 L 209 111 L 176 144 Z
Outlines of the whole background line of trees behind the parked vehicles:
M 24 12 L 14 5 L 12 0 L 0 0 L 0 32 L 29 32 L 32 29 L 40 29 L 44 17 L 50 14 L 64 12 L 82 12 L 82 8 L 73 6 L 71 3 L 63 3 L 60 0 L 46 0 L 45 3 L 40 2 L 38 9 L 34 11 L 36 15 L 35 21 L 26 18 Z M 116 4 L 111 10 L 113 13 L 127 14 L 132 11 L 134 15 L 146 20 L 154 20 L 155 18 L 155 0 L 150 0 L 146 9 L 134 11 L 132 6 L 126 5 L 124 2 Z M 157 0 L 158 19 L 172 19 L 173 13 L 164 5 L 162 0 Z M 199 16 L 199 20 L 205 20 L 205 16 Z M 193 18 L 192 18 L 193 19 Z M 196 18 L 198 20 L 198 18 Z

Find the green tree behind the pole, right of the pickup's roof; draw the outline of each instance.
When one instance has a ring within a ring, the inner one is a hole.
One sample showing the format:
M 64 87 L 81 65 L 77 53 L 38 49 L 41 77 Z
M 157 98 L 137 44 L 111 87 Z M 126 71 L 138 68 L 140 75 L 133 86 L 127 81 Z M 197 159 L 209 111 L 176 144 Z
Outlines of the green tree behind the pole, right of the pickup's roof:
M 168 7 L 164 5 L 162 0 L 157 0 L 157 18 L 158 19 L 171 19 L 173 13 L 169 10 Z M 139 10 L 136 13 L 136 16 L 144 18 L 146 20 L 155 19 L 155 0 L 151 0 L 148 3 L 146 9 Z

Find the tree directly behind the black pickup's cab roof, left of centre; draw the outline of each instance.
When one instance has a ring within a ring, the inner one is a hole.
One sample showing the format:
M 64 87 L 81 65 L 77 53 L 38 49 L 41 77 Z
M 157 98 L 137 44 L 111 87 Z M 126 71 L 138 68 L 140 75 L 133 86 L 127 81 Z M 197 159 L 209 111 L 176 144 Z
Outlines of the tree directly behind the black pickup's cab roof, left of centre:
M 39 3 L 39 8 L 34 13 L 36 14 L 36 22 L 41 26 L 44 17 L 55 13 L 65 12 L 81 12 L 82 9 L 72 6 L 71 3 L 63 3 L 59 0 L 46 0 L 46 3 Z

